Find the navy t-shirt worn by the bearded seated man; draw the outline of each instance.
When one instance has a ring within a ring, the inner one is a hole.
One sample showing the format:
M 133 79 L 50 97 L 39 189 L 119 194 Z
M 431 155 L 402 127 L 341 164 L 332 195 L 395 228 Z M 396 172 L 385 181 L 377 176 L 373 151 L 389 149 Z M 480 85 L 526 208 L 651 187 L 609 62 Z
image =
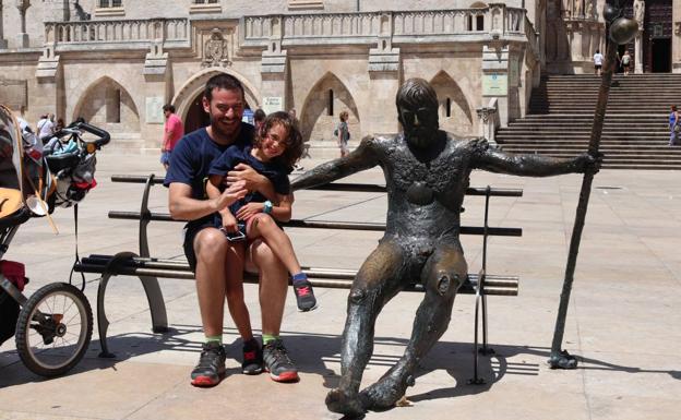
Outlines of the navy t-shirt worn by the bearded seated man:
M 166 173 L 164 185 L 169 187 L 172 182 L 181 182 L 192 188 L 192 197 L 205 199 L 205 182 L 208 178 L 211 164 L 227 148 L 244 148 L 253 142 L 253 125 L 241 123 L 239 136 L 229 145 L 215 143 L 205 128 L 184 135 L 172 149 L 170 166 Z M 188 227 L 202 226 L 213 219 L 212 215 L 191 220 Z

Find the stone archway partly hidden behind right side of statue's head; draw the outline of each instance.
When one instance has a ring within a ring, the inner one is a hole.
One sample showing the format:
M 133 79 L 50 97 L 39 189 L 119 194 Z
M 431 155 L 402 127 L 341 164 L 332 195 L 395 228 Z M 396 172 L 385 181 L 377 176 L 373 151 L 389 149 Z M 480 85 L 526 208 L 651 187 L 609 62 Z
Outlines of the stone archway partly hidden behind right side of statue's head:
M 458 84 L 445 71 L 435 74 L 430 84 L 440 101 L 440 129 L 457 135 L 473 135 L 473 112 Z

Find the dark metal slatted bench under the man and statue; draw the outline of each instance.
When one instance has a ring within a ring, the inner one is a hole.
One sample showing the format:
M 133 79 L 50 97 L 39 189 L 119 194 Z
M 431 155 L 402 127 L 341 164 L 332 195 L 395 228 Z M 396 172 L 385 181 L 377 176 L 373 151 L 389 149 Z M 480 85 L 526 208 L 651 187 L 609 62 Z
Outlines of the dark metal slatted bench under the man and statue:
M 189 264 L 186 261 L 167 260 L 152 257 L 148 249 L 147 226 L 154 221 L 181 221 L 175 220 L 167 213 L 153 213 L 148 209 L 148 197 L 151 188 L 155 184 L 162 184 L 163 178 L 156 178 L 154 175 L 143 176 L 112 176 L 112 182 L 128 183 L 145 183 L 142 194 L 142 203 L 139 212 L 110 211 L 108 216 L 112 219 L 139 220 L 139 254 L 124 251 L 116 255 L 93 254 L 84 257 L 75 265 L 76 272 L 100 274 L 99 287 L 97 290 L 97 328 L 99 333 L 99 343 L 101 344 L 100 357 L 112 357 L 109 352 L 107 344 L 107 331 L 109 321 L 105 311 L 106 288 L 111 276 L 127 275 L 136 276 L 142 281 L 144 291 L 150 305 L 152 315 L 152 331 L 154 333 L 165 333 L 168 331 L 168 319 L 163 292 L 158 285 L 158 278 L 180 278 L 194 279 Z M 311 190 L 325 191 L 347 191 L 347 192 L 385 192 L 385 187 L 375 184 L 355 184 L 355 183 L 330 183 Z M 485 217 L 482 226 L 462 226 L 462 235 L 479 235 L 482 236 L 482 266 L 478 273 L 468 274 L 466 281 L 458 289 L 458 293 L 475 295 L 475 337 L 474 337 L 474 377 L 471 383 L 485 383 L 478 376 L 478 353 L 489 355 L 493 350 L 487 343 L 487 296 L 517 296 L 518 277 L 509 275 L 487 274 L 487 243 L 490 236 L 502 237 L 519 237 L 523 231 L 521 228 L 509 227 L 490 227 L 488 225 L 489 202 L 492 196 L 510 196 L 518 197 L 523 195 L 522 190 L 516 189 L 492 189 L 487 188 L 469 188 L 467 195 L 485 196 Z M 463 208 L 462 208 L 463 211 Z M 346 229 L 346 230 L 371 230 L 383 231 L 385 224 L 379 223 L 351 223 L 351 221 L 332 221 L 332 220 L 306 220 L 291 219 L 285 224 L 288 228 L 316 228 L 316 229 Z M 349 289 L 353 285 L 357 269 L 347 268 L 328 268 L 328 267 L 310 267 L 303 266 L 303 272 L 313 287 L 316 288 L 339 288 Z M 246 283 L 258 283 L 258 276 L 251 273 L 244 273 Z M 404 289 L 405 291 L 423 291 L 420 284 L 413 284 Z M 479 331 L 481 319 L 482 344 L 479 345 Z

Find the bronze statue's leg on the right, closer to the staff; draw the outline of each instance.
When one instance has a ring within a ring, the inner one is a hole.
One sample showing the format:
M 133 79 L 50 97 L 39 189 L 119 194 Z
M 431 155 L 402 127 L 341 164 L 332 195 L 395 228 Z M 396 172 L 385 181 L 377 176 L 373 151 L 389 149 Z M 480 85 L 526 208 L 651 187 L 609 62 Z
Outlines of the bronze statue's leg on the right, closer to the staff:
M 467 275 L 467 265 L 459 247 L 440 244 L 430 256 L 421 280 L 426 296 L 416 312 L 411 338 L 404 356 L 379 382 L 363 389 L 360 399 L 365 408 L 387 409 L 414 385 L 413 373 L 418 361 L 446 331 L 452 315 L 456 290 Z

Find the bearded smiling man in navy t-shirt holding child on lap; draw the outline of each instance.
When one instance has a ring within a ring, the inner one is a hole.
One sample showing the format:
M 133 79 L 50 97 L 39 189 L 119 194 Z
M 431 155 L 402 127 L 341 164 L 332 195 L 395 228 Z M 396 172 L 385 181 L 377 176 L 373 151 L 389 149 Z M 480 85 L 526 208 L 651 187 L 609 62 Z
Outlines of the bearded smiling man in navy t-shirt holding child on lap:
M 253 127 L 241 121 L 246 100 L 241 83 L 228 74 L 213 76 L 206 83 L 203 108 L 210 115 L 211 124 L 187 134 L 172 152 L 165 184 L 169 187 L 168 206 L 175 219 L 190 220 L 184 237 L 184 253 L 196 277 L 196 295 L 201 322 L 205 334 L 203 351 L 191 374 L 195 386 L 216 385 L 225 374 L 225 349 L 223 348 L 223 314 L 227 288 L 242 288 L 228 284 L 229 275 L 244 269 L 260 271 L 260 305 L 262 313 L 263 348 L 252 336 L 250 317 L 243 310 L 230 308 L 231 316 L 242 337 L 243 364 L 247 374 L 265 369 L 273 380 L 294 382 L 298 372 L 279 338 L 284 302 L 288 287 L 288 274 L 272 250 L 262 241 L 248 245 L 244 255 L 238 247 L 243 243 L 228 242 L 225 235 L 212 227 L 213 214 L 247 191 L 259 191 L 271 201 L 276 199 L 267 178 L 251 167 L 239 165 L 229 171 L 229 187 L 215 200 L 204 199 L 204 179 L 214 158 L 230 145 L 246 147 L 253 139 Z M 231 289 L 234 290 L 234 289 Z M 240 289 L 242 292 L 242 289 Z

